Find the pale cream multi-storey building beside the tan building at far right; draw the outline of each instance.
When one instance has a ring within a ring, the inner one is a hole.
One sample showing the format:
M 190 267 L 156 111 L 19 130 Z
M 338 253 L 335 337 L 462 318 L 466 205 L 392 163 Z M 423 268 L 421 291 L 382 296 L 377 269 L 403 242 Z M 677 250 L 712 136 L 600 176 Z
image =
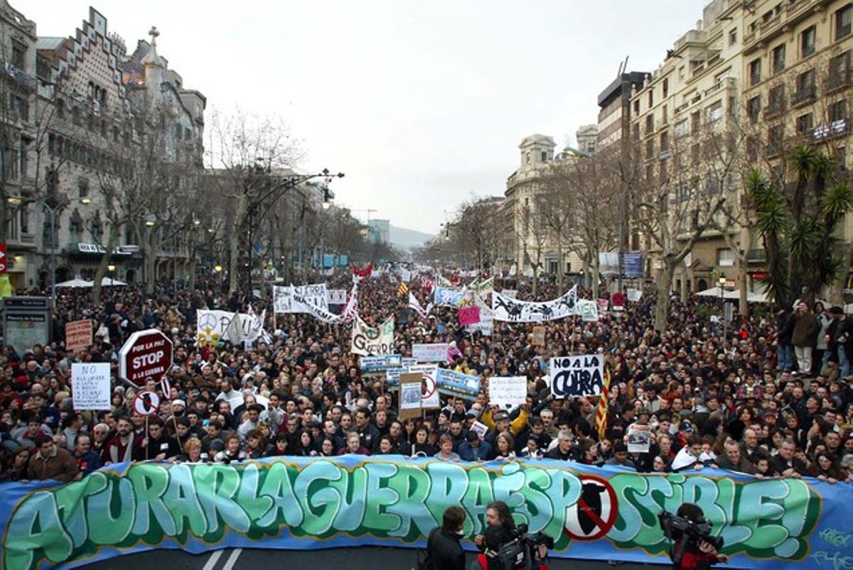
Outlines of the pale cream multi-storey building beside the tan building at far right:
M 664 61 L 630 97 L 630 141 L 645 183 L 659 187 L 669 201 L 670 233 L 686 242 L 703 224 L 716 200 L 740 203 L 739 153 L 746 145 L 742 128 L 744 14 L 740 0 L 709 3 L 693 30 L 668 49 Z M 732 247 L 749 236 L 717 212 L 678 268 L 673 289 L 686 295 L 735 279 Z M 716 222 L 716 223 L 714 223 Z M 728 222 L 728 223 L 727 223 Z M 725 230 L 723 234 L 721 230 Z M 652 273 L 662 268 L 659 244 L 641 239 Z

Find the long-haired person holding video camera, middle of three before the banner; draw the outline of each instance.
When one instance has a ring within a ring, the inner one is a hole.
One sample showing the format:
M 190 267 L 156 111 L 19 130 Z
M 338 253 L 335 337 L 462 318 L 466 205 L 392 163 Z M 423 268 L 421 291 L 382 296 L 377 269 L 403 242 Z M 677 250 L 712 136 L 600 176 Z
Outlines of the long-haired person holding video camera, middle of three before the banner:
M 485 510 L 485 534 L 474 538 L 483 554 L 471 565 L 471 570 L 515 570 L 533 568 L 533 561 L 548 556 L 554 540 L 543 533 L 528 534 L 526 525 L 515 526 L 513 515 L 503 501 L 492 501 Z M 544 564 L 537 570 L 547 570 Z

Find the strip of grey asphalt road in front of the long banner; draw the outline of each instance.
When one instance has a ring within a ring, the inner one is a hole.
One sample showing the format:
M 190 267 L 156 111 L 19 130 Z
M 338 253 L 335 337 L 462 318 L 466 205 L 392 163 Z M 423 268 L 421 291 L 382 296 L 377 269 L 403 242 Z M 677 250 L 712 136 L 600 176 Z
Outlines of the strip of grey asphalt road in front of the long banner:
M 468 554 L 468 562 L 473 554 Z M 192 555 L 183 550 L 154 550 L 140 554 L 119 556 L 107 561 L 89 564 L 87 568 L 97 570 L 415 570 L 417 551 L 384 548 L 339 548 L 328 550 L 261 550 L 224 549 L 212 553 Z M 646 564 L 617 564 L 606 561 L 558 560 L 548 562 L 550 570 L 590 568 L 604 570 L 659 570 L 663 566 Z

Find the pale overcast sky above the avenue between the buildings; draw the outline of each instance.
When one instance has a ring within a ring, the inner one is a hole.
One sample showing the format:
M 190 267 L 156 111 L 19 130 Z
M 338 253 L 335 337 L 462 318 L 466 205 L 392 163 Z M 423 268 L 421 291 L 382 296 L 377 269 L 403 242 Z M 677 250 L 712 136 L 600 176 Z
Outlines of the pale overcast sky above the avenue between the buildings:
M 86 0 L 10 0 L 40 36 L 69 36 Z M 471 195 L 503 193 L 525 135 L 573 143 L 601 89 L 651 71 L 705 0 L 102 0 L 132 51 L 160 55 L 224 112 L 278 113 L 302 170 L 345 172 L 338 202 L 430 233 Z M 364 219 L 366 212 L 354 211 Z

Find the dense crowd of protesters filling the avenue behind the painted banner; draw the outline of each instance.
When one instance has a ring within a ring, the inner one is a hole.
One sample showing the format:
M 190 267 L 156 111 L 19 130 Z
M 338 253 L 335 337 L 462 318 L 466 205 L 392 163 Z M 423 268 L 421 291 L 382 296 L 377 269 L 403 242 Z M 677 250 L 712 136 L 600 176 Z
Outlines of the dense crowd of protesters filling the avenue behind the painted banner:
M 448 277 L 452 277 L 448 275 Z M 339 285 L 350 275 L 333 278 Z M 426 279 L 411 290 L 427 305 Z M 708 318 L 697 300 L 673 299 L 670 325 L 653 327 L 653 302 L 629 302 L 597 323 L 572 318 L 545 324 L 543 346 L 532 326 L 495 322 L 491 336 L 457 325 L 456 309 L 426 317 L 397 297 L 399 278 L 365 278 L 358 312 L 370 324 L 397 319 L 397 353 L 413 343 L 450 343 L 443 367 L 478 375 L 476 400 L 443 398 L 422 418 L 397 418 L 397 394 L 383 377 L 362 377 L 351 354 L 351 325 L 328 325 L 307 314 L 268 319 L 271 343 L 250 348 L 197 346 L 200 308 L 245 310 L 258 299 L 224 293 L 200 281 L 195 291 L 134 287 L 61 294 L 55 338 L 48 346 L 3 348 L 0 361 L 0 481 L 74 481 L 126 461 L 238 462 L 276 456 L 341 454 L 432 457 L 441 461 L 551 458 L 618 465 L 641 472 L 730 469 L 756 477 L 810 476 L 853 481 L 853 319 L 838 307 L 798 303 L 739 326 Z M 506 284 L 522 300 L 561 292 L 529 282 Z M 496 289 L 502 282 L 496 281 Z M 564 288 L 565 289 L 565 288 Z M 651 296 L 649 296 L 651 297 Z M 269 303 L 267 304 L 269 307 Z M 708 307 L 705 307 L 708 308 Z M 760 311 L 759 311 L 760 312 Z M 269 313 L 268 313 L 269 314 Z M 96 334 L 70 355 L 64 325 L 91 319 Z M 154 417 L 131 406 L 138 389 L 113 381 L 110 411 L 75 411 L 71 363 L 110 362 L 134 331 L 159 328 L 174 342 L 170 394 L 159 383 Z M 603 437 L 596 398 L 555 399 L 548 388 L 552 356 L 605 354 L 612 371 Z M 491 406 L 488 378 L 525 376 L 528 398 L 514 410 Z M 488 431 L 479 435 L 474 424 Z M 643 438 L 634 435 L 643 433 Z M 635 440 L 647 442 L 636 451 Z

